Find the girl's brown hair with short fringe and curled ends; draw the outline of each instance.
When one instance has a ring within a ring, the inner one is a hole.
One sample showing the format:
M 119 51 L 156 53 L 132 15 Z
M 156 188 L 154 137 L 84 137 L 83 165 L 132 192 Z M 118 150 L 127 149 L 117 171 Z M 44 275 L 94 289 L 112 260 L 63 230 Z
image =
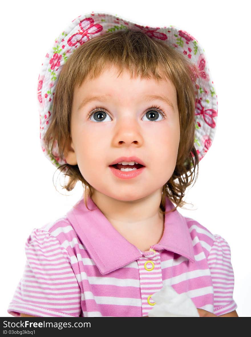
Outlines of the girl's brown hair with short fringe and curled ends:
M 137 74 L 143 79 L 169 79 L 177 92 L 180 121 L 180 143 L 175 170 L 169 181 L 163 186 L 160 212 L 165 214 L 165 197 L 182 207 L 186 188 L 198 177 L 195 176 L 199 159 L 194 147 L 195 137 L 195 83 L 196 67 L 175 47 L 152 39 L 141 31 L 131 29 L 105 33 L 83 43 L 74 50 L 59 76 L 53 100 L 52 120 L 45 134 L 48 148 L 56 141 L 63 158 L 65 146 L 70 135 L 71 106 L 73 89 L 81 85 L 88 76 L 97 78 L 107 66 L 113 65 L 131 72 L 131 78 Z M 119 74 L 120 74 L 119 73 Z M 85 205 L 92 196 L 92 186 L 82 177 L 78 165 L 64 164 L 59 167 L 68 176 L 68 182 L 62 186 L 71 191 L 77 181 L 82 183 L 85 193 Z

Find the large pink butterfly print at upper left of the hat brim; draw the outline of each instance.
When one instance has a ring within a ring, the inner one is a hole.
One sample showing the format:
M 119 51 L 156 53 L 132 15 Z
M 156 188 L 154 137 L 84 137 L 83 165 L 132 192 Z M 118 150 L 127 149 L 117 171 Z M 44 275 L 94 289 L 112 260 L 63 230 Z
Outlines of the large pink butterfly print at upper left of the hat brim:
M 83 44 L 90 39 L 89 35 L 99 33 L 103 27 L 99 24 L 94 25 L 93 18 L 85 18 L 79 23 L 80 30 L 69 37 L 67 43 L 70 47 L 73 47 L 79 42 Z

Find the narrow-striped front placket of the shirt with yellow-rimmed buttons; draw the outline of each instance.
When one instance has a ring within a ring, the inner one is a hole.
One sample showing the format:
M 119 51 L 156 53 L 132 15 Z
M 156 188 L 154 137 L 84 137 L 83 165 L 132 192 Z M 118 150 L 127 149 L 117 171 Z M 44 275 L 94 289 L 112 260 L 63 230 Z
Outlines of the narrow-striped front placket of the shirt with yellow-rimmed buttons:
M 140 291 L 142 299 L 142 316 L 147 316 L 148 312 L 155 305 L 151 296 L 162 288 L 162 270 L 160 266 L 160 254 L 150 248 L 146 252 L 141 252 L 138 262 Z

